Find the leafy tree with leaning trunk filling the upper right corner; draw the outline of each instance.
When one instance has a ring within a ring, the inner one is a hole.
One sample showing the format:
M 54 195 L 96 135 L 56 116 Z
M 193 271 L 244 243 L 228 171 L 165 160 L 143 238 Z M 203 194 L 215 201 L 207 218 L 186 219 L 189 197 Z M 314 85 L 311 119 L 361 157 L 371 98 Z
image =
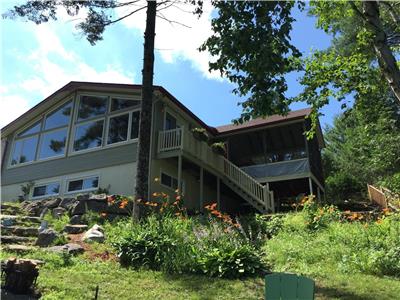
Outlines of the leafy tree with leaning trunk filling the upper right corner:
M 239 121 L 285 114 L 290 103 L 306 101 L 314 108 L 314 129 L 322 106 L 332 98 L 342 101 L 353 93 L 368 94 L 371 87 L 363 82 L 370 77 L 384 78 L 400 100 L 395 60 L 400 49 L 399 3 L 312 1 L 310 14 L 318 18 L 317 27 L 334 39 L 329 49 L 304 60 L 290 43 L 294 5 L 294 1 L 214 2 L 219 12 L 212 20 L 214 33 L 201 50 L 217 58 L 210 69 L 235 83 L 236 94 L 247 96 Z M 305 72 L 304 91 L 289 99 L 284 75 L 296 70 Z

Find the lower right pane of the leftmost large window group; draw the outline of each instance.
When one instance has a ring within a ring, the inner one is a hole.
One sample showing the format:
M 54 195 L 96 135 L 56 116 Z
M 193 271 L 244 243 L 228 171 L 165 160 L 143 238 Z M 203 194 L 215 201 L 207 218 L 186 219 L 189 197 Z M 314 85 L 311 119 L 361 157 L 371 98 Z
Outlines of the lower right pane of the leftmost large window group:
M 67 140 L 67 129 L 44 133 L 40 146 L 39 158 L 63 155 Z

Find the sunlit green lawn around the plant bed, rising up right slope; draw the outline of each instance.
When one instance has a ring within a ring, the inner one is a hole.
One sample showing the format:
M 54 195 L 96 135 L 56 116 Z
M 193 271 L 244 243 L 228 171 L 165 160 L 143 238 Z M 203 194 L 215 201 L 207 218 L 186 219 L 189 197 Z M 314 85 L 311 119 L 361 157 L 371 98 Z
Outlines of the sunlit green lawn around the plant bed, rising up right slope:
M 313 230 L 307 225 L 306 211 L 288 214 L 281 221 L 277 218 L 261 221 L 266 225 L 264 229 L 269 238 L 266 235 L 261 238 L 259 251 L 269 270 L 303 274 L 314 279 L 316 299 L 398 299 L 399 215 L 383 216 L 379 222 L 348 222 L 329 216 L 328 210 L 321 213 L 318 209 L 317 213 L 328 216 L 318 217 L 318 228 Z M 177 228 L 176 232 L 185 235 L 181 230 L 186 221 L 165 220 L 165 226 L 169 222 Z M 118 226 L 121 223 L 105 224 L 108 240 L 121 235 Z M 148 232 L 157 227 L 144 228 Z M 190 226 L 184 228 L 187 230 Z M 91 250 L 77 257 L 43 250 L 20 256 L 46 262 L 38 278 L 42 299 L 93 299 L 97 285 L 99 299 L 263 299 L 264 282 L 260 275 L 222 279 L 167 274 L 121 267 L 115 255 L 97 255 L 113 251 L 107 242 L 91 244 Z M 16 255 L 1 253 L 1 259 L 10 256 Z

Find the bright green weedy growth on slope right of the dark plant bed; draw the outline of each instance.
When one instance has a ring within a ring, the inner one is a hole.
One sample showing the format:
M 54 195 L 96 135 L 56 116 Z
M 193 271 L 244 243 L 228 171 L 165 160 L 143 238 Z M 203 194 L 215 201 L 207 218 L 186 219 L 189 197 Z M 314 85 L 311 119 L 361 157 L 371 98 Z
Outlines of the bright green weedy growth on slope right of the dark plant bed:
M 289 215 L 308 220 L 305 213 Z M 327 220 L 324 230 L 284 230 L 268 240 L 264 251 L 276 270 L 296 270 L 314 276 L 339 272 L 400 276 L 400 215 L 389 214 L 377 222 Z M 297 223 L 298 220 L 295 222 Z

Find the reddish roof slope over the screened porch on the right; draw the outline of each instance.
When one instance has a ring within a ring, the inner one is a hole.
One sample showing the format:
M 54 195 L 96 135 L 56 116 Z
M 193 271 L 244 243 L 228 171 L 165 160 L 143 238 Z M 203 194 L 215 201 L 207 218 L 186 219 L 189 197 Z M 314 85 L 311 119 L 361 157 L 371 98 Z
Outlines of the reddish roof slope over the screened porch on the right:
M 220 134 L 231 133 L 238 130 L 244 130 L 249 128 L 257 128 L 265 125 L 272 125 L 275 123 L 285 122 L 289 120 L 296 120 L 296 119 L 304 119 L 311 113 L 311 108 L 304 108 L 300 110 L 295 110 L 289 112 L 287 115 L 272 115 L 266 118 L 257 118 L 250 120 L 248 122 L 244 122 L 243 124 L 228 124 L 216 127 L 216 130 Z

